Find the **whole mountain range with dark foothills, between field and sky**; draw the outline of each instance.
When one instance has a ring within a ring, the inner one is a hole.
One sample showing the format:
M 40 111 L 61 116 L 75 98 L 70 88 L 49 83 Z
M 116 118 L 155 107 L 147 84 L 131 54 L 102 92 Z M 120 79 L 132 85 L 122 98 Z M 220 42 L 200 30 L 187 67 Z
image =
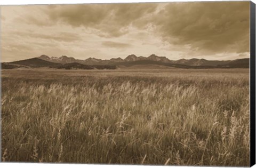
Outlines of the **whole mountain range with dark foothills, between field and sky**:
M 132 67 L 138 65 L 159 65 L 175 68 L 249 68 L 250 59 L 236 59 L 236 60 L 206 60 L 206 59 L 180 59 L 169 60 L 166 57 L 159 57 L 155 54 L 149 57 L 137 57 L 134 54 L 128 55 L 125 59 L 112 58 L 109 60 L 102 60 L 96 58 L 88 58 L 85 60 L 75 59 L 62 55 L 61 57 L 49 57 L 41 55 L 40 57 L 2 63 L 3 69 L 15 67 L 51 67 L 51 68 L 65 68 L 65 69 L 115 69 L 117 67 Z

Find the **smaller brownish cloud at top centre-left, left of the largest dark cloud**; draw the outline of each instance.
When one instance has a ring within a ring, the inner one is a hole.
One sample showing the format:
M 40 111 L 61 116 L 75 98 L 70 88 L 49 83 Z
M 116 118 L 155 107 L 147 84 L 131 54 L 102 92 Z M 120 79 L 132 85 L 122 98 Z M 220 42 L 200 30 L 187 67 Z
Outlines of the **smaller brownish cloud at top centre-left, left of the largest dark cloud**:
M 56 23 L 73 27 L 83 26 L 99 30 L 100 36 L 118 37 L 128 33 L 129 26 L 148 13 L 154 12 L 156 7 L 155 3 L 49 5 L 42 9 L 47 19 L 29 16 L 25 22 L 38 26 Z

